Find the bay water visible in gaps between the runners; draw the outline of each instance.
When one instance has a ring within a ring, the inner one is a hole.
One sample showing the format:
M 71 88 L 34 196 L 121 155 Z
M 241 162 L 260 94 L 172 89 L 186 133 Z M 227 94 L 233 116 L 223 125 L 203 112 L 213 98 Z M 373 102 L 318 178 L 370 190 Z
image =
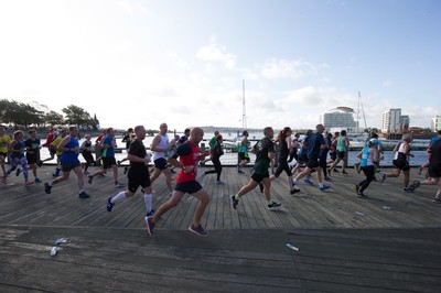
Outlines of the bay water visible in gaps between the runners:
M 171 137 L 171 135 L 169 135 L 169 137 Z M 153 138 L 154 137 L 147 137 L 144 139 L 144 141 L 143 141 L 144 145 L 146 146 L 150 146 L 151 142 L 153 141 Z M 96 138 L 92 138 L 93 142 L 95 142 L 95 140 L 96 140 Z M 202 143 L 205 143 L 205 145 L 208 145 L 208 140 L 209 139 L 207 139 L 206 141 L 203 141 Z M 80 140 L 79 144 L 82 144 L 83 141 L 84 140 Z M 116 141 L 117 141 L 117 146 L 118 148 L 125 148 L 126 146 L 126 143 L 121 142 L 121 138 L 116 139 Z M 41 140 L 42 144 L 44 142 L 45 142 L 45 140 Z M 347 162 L 347 164 L 349 166 L 353 166 L 354 163 L 359 162 L 359 159 L 357 159 L 358 152 L 359 151 L 349 151 L 349 153 L 348 153 L 348 162 Z M 412 151 L 412 153 L 413 153 L 415 158 L 410 158 L 409 159 L 409 163 L 410 163 L 411 166 L 419 166 L 419 165 L 423 164 L 427 161 L 427 152 L 426 151 Z M 381 161 L 380 165 L 383 165 L 383 166 L 391 166 L 395 153 L 392 151 L 385 151 L 384 155 L 385 155 L 385 160 Z M 126 156 L 127 156 L 127 151 L 126 150 L 122 150 L 121 153 L 116 153 L 115 154 L 115 158 L 116 158 L 117 161 L 120 161 Z M 41 158 L 42 159 L 50 158 L 49 150 L 46 148 L 42 148 Z M 256 160 L 256 155 L 250 153 L 249 158 L 250 158 L 250 164 L 254 164 L 254 162 Z M 83 159 L 82 154 L 78 155 L 78 159 L 79 159 L 79 161 L 85 162 L 85 160 Z M 50 162 L 55 163 L 55 160 L 50 161 Z M 236 165 L 237 164 L 237 153 L 236 152 L 232 153 L 232 152 L 227 152 L 226 151 L 225 154 L 223 156 L 220 156 L 220 163 L 223 165 Z M 211 163 L 208 162 L 207 164 L 209 165 Z

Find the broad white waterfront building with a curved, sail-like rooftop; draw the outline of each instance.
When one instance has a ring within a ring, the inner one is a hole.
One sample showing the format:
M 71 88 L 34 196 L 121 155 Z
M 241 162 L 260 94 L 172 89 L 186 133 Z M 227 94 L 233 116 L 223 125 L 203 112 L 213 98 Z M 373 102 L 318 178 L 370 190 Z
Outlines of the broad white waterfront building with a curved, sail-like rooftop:
M 340 131 L 345 129 L 347 132 L 355 132 L 357 129 L 357 122 L 354 120 L 354 110 L 348 107 L 331 109 L 320 116 L 320 122 L 329 131 Z

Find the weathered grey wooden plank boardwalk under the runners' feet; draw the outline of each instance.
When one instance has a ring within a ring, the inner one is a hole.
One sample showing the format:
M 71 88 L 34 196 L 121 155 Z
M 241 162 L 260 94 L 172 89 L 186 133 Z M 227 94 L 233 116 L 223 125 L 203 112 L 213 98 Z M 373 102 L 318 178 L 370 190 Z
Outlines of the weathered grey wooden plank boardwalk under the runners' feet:
M 39 169 L 51 180 L 53 166 Z M 120 181 L 126 183 L 122 169 Z M 422 176 L 411 171 L 412 180 Z M 229 196 L 249 181 L 224 167 L 201 180 L 211 196 L 203 225 L 207 238 L 190 234 L 196 200 L 163 215 L 155 236 L 144 229 L 141 194 L 107 213 L 116 195 L 111 173 L 94 178 L 87 199 L 77 197 L 76 177 L 55 185 L 22 185 L 10 176 L 0 185 L 1 292 L 439 292 L 441 205 L 434 186 L 402 191 L 402 177 L 373 183 L 369 199 L 352 191 L 362 175 L 333 174 L 332 188 L 299 184 L 288 193 L 286 176 L 271 186 L 282 209 L 266 209 L 257 188 L 232 210 Z M 313 177 L 314 181 L 314 177 Z M 153 183 L 158 208 L 169 198 L 164 177 Z M 55 257 L 49 252 L 60 237 Z M 290 242 L 299 251 L 290 250 Z

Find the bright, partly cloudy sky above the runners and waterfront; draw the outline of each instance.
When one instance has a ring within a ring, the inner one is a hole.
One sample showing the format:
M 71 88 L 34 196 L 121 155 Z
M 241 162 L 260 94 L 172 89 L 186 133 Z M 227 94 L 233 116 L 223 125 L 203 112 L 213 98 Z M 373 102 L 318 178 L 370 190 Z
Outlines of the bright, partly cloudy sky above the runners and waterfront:
M 119 129 L 306 129 L 341 106 L 426 128 L 440 32 L 438 0 L 0 0 L 0 99 Z

